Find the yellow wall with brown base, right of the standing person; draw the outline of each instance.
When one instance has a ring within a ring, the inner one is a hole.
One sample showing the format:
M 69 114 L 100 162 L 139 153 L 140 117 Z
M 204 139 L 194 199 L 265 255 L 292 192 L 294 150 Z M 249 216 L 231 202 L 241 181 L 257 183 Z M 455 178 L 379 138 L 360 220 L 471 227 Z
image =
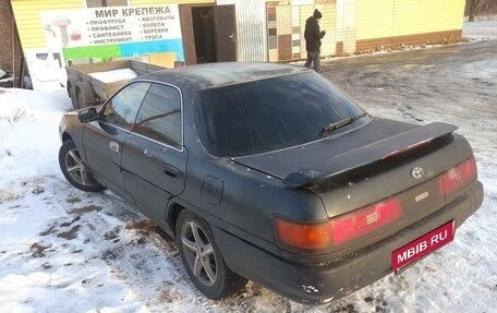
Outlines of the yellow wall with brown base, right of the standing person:
M 357 1 L 355 52 L 461 40 L 464 0 Z

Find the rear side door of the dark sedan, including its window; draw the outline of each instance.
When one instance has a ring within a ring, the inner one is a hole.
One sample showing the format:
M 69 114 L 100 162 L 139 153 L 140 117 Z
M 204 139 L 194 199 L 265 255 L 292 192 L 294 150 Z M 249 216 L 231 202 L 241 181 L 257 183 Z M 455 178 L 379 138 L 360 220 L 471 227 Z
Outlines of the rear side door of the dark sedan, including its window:
M 122 167 L 126 191 L 137 207 L 158 224 L 165 222 L 169 200 L 183 192 L 186 159 L 181 92 L 155 83 L 124 143 Z

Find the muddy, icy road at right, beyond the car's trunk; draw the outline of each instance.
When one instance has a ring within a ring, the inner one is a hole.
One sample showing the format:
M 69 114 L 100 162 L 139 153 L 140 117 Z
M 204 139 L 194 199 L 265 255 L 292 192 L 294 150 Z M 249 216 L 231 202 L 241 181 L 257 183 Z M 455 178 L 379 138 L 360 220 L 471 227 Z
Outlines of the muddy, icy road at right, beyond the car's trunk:
M 324 62 L 323 75 L 378 117 L 458 125 L 495 169 L 496 51 L 497 40 L 483 40 L 360 56 Z

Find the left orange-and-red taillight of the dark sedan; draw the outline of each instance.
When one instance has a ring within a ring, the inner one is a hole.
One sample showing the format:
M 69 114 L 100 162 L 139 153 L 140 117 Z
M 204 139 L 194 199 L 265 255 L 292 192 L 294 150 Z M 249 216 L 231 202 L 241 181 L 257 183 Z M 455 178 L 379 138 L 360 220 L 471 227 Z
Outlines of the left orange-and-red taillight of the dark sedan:
M 275 227 L 278 242 L 282 245 L 305 250 L 327 249 L 389 225 L 402 214 L 400 201 L 392 197 L 325 222 L 301 224 L 277 217 Z

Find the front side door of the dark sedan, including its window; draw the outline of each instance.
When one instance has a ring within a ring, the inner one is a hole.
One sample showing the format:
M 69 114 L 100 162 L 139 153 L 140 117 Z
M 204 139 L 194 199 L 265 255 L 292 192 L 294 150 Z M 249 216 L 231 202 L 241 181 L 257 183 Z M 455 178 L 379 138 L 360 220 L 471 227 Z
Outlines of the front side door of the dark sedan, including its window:
M 149 87 L 150 83 L 133 83 L 119 91 L 104 104 L 98 120 L 85 125 L 83 133 L 86 161 L 94 176 L 120 195 L 125 195 L 122 147 Z

